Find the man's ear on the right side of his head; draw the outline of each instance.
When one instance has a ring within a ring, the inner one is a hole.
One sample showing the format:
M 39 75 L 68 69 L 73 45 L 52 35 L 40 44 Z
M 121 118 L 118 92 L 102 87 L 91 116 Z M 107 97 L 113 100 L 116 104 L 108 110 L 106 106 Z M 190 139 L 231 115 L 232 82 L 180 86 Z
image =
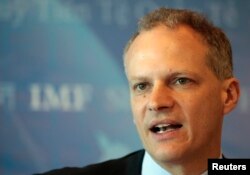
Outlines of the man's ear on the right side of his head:
M 225 94 L 225 96 L 223 97 L 224 114 L 227 114 L 235 108 L 239 101 L 239 81 L 236 78 L 229 78 L 224 80 L 223 90 Z

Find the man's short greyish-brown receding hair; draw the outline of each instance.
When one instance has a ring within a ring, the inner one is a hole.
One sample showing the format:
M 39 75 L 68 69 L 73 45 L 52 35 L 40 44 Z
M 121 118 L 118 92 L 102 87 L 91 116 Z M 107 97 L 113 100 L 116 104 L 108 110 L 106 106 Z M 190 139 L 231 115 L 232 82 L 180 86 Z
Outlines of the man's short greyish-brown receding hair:
M 191 10 L 162 7 L 145 15 L 139 20 L 138 30 L 128 41 L 124 55 L 142 31 L 151 30 L 159 25 L 168 28 L 186 25 L 192 28 L 208 46 L 206 62 L 215 76 L 221 80 L 233 77 L 232 49 L 229 39 L 220 28 L 214 26 L 205 16 Z

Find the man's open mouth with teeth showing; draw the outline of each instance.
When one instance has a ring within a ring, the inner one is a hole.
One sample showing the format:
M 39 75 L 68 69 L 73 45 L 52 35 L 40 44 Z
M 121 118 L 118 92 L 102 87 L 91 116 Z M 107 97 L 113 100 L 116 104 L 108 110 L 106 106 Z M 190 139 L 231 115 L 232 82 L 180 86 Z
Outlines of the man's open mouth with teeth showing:
M 181 128 L 181 124 L 158 124 L 150 128 L 153 133 L 162 134 L 164 132 L 173 131 Z

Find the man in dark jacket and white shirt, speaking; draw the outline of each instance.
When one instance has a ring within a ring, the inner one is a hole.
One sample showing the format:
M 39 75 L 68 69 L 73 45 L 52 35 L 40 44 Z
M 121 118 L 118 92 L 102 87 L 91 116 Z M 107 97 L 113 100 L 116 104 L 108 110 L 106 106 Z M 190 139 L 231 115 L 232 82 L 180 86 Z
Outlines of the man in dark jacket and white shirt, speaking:
M 160 8 L 139 22 L 124 65 L 145 151 L 48 174 L 206 174 L 240 94 L 225 34 L 196 12 Z

